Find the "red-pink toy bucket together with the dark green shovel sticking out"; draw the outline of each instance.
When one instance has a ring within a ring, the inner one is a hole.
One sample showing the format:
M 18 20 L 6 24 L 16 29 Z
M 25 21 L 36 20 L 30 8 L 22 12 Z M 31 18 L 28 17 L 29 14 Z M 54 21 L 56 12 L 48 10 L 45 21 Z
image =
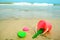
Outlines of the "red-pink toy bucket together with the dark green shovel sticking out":
M 37 24 L 37 33 L 35 33 L 32 38 L 36 38 L 39 34 L 50 32 L 51 29 L 52 25 L 49 22 L 40 20 Z

